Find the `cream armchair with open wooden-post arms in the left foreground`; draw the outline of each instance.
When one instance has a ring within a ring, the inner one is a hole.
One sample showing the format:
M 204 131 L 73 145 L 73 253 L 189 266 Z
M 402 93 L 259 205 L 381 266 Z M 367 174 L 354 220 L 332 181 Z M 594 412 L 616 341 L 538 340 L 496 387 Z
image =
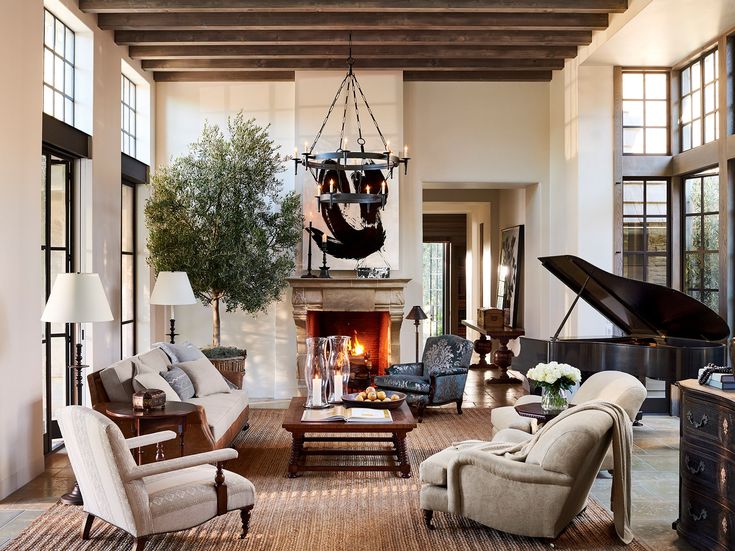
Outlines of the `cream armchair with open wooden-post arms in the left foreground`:
M 237 457 L 235 450 L 138 466 L 130 449 L 176 438 L 176 433 L 126 440 L 107 417 L 79 406 L 64 408 L 59 425 L 84 496 L 82 539 L 89 539 L 94 519 L 100 518 L 131 534 L 134 551 L 142 551 L 151 535 L 186 530 L 234 510 L 240 510 L 240 537 L 247 535 L 255 488 L 222 468 L 222 462 Z

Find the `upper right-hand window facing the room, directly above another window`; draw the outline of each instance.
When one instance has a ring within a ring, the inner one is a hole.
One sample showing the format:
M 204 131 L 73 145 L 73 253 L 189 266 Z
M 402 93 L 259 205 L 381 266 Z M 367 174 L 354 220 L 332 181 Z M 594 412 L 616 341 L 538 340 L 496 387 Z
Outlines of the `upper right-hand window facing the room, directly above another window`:
M 623 153 L 669 152 L 669 76 L 652 71 L 623 72 Z

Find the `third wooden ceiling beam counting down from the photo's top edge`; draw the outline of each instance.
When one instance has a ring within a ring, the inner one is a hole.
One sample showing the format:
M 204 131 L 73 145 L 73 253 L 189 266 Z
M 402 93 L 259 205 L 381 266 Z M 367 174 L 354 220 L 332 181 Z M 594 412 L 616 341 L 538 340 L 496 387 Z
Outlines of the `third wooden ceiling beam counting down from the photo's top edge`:
M 315 34 L 294 31 L 115 31 L 115 42 L 123 46 L 177 45 L 340 45 L 347 46 L 347 34 Z M 352 37 L 360 46 L 577 46 L 592 42 L 591 31 L 373 31 Z

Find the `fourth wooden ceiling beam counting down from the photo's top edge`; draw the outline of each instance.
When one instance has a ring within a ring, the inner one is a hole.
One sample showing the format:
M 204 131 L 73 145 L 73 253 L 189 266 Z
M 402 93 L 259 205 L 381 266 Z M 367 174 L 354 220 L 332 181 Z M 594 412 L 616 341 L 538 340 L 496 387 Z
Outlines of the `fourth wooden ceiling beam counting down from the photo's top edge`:
M 345 46 L 130 46 L 133 59 L 341 59 Z M 575 46 L 360 46 L 352 48 L 355 59 L 406 58 L 496 58 L 558 59 L 577 55 Z M 342 61 L 344 64 L 344 61 Z

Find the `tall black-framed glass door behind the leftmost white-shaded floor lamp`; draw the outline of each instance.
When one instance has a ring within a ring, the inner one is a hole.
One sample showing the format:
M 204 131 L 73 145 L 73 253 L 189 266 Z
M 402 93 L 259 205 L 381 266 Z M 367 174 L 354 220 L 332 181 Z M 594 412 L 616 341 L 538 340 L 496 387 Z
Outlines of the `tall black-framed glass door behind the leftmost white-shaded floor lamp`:
M 41 182 L 41 255 L 43 257 L 44 303 L 51 294 L 56 276 L 70 272 L 73 254 L 73 161 L 44 149 Z M 61 442 L 56 413 L 72 403 L 73 381 L 67 366 L 72 359 L 72 327 L 68 323 L 43 323 L 43 423 L 44 453 Z

